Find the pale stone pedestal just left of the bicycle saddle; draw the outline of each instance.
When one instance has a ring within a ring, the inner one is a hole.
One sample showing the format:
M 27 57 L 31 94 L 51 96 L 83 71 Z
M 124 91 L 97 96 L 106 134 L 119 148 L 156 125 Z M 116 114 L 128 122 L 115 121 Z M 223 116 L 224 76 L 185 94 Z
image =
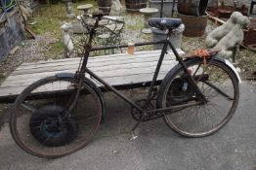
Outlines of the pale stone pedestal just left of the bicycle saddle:
M 145 34 L 152 33 L 151 29 L 149 28 L 148 20 L 150 17 L 152 17 L 152 15 L 154 15 L 155 13 L 158 13 L 158 10 L 154 8 L 143 8 L 140 10 L 140 13 L 142 13 L 145 17 L 145 22 L 144 22 L 145 28 L 142 30 L 142 32 Z

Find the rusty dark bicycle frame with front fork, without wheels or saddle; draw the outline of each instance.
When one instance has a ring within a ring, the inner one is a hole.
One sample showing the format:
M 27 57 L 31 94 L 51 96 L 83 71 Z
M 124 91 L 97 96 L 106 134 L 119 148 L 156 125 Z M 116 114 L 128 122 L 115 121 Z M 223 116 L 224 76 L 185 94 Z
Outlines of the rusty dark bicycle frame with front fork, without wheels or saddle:
M 122 98 L 125 102 L 129 103 L 131 106 L 133 106 L 134 108 L 136 108 L 139 112 L 142 113 L 142 118 L 138 121 L 138 123 L 134 126 L 133 130 L 139 125 L 139 123 L 141 121 L 144 121 L 144 118 L 148 115 L 148 114 L 154 114 L 154 116 L 156 116 L 153 119 L 157 119 L 162 117 L 167 111 L 174 111 L 174 110 L 180 110 L 180 109 L 185 109 L 194 105 L 199 105 L 199 104 L 204 104 L 207 102 L 205 96 L 203 95 L 203 93 L 201 92 L 201 90 L 199 89 L 199 87 L 196 85 L 195 80 L 192 78 L 192 75 L 190 74 L 185 62 L 183 61 L 183 59 L 181 58 L 181 56 L 179 55 L 179 53 L 176 51 L 176 49 L 174 48 L 174 46 L 172 45 L 172 43 L 169 41 L 169 38 L 171 36 L 171 31 L 169 30 L 167 33 L 167 38 L 165 40 L 160 40 L 160 41 L 151 41 L 151 42 L 145 42 L 145 43 L 136 43 L 135 47 L 138 46 L 148 46 L 148 45 L 155 45 L 155 44 L 163 44 L 154 74 L 153 74 L 153 78 L 152 81 L 149 85 L 149 92 L 148 92 L 148 96 L 146 99 L 146 103 L 145 106 L 149 105 L 149 102 L 152 100 L 152 93 L 153 93 L 153 87 L 155 86 L 156 80 L 157 80 L 157 76 L 164 58 L 165 53 L 167 52 L 167 48 L 170 47 L 171 50 L 174 52 L 176 59 L 178 60 L 178 62 L 182 65 L 185 73 L 187 74 L 187 78 L 189 83 L 192 85 L 195 93 L 198 95 L 199 97 L 199 101 L 194 102 L 194 103 L 190 103 L 190 104 L 181 104 L 181 105 L 175 105 L 175 106 L 171 106 L 171 107 L 167 107 L 167 108 L 161 108 L 161 109 L 153 109 L 153 110 L 144 110 L 142 107 L 140 107 L 138 104 L 136 104 L 135 102 L 133 102 L 130 98 L 126 97 L 123 93 L 119 92 L 115 87 L 113 87 L 112 85 L 107 84 L 107 82 L 105 82 L 102 78 L 100 78 L 98 75 L 96 75 L 95 73 L 93 73 L 89 68 L 87 68 L 87 61 L 88 61 L 88 57 L 91 51 L 101 51 L 101 50 L 110 50 L 110 49 L 117 49 L 117 48 L 127 48 L 128 45 L 127 44 L 123 44 L 123 45 L 113 45 L 113 46 L 107 46 L 107 47 L 96 47 L 93 48 L 92 47 L 92 41 L 93 38 L 95 36 L 95 29 L 97 28 L 99 21 L 100 21 L 100 17 L 98 17 L 96 19 L 96 22 L 94 24 L 94 26 L 90 29 L 89 32 L 89 40 L 88 42 L 84 45 L 84 54 L 82 56 L 82 64 L 81 67 L 78 69 L 78 71 L 76 72 L 76 79 L 79 80 L 79 84 L 78 84 L 78 92 L 75 95 L 75 100 L 74 102 L 71 104 L 71 107 L 69 107 L 69 111 L 71 108 L 73 108 L 73 106 L 75 105 L 75 102 L 77 101 L 78 97 L 79 97 L 79 91 L 82 87 L 82 82 L 84 80 L 85 77 L 85 73 L 88 73 L 90 75 L 91 78 L 93 78 L 94 80 L 96 80 L 97 82 L 99 82 L 102 85 L 105 85 L 107 87 L 107 89 L 109 91 L 112 91 L 113 93 L 115 93 L 118 97 Z M 158 114 L 160 113 L 160 115 Z M 149 119 L 147 119 L 149 120 Z M 132 131 L 133 131 L 132 130 Z

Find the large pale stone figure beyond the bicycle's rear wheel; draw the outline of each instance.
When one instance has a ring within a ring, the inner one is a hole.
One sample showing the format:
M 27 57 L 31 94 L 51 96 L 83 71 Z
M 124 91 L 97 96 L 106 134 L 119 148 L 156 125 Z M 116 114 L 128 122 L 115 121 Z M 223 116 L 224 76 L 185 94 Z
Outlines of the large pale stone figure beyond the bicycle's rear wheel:
M 214 29 L 206 37 L 207 48 L 221 49 L 219 56 L 235 61 L 236 52 L 243 40 L 243 28 L 247 27 L 249 19 L 234 12 L 226 23 Z

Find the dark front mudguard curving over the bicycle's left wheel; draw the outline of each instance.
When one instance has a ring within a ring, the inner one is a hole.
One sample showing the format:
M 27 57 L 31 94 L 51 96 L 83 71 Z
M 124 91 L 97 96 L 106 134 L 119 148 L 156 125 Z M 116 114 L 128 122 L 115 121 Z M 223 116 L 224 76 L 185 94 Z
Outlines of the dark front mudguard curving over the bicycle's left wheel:
M 74 78 L 75 74 L 73 74 L 73 73 L 57 73 L 55 76 L 57 76 L 58 78 Z M 100 98 L 100 101 L 101 101 L 101 104 L 102 104 L 102 114 L 103 114 L 102 115 L 102 123 L 103 123 L 104 120 L 106 119 L 106 102 L 105 102 L 103 92 L 97 85 L 95 85 L 88 78 L 84 78 L 84 83 L 86 85 L 89 85 L 93 90 L 95 90 L 98 97 Z

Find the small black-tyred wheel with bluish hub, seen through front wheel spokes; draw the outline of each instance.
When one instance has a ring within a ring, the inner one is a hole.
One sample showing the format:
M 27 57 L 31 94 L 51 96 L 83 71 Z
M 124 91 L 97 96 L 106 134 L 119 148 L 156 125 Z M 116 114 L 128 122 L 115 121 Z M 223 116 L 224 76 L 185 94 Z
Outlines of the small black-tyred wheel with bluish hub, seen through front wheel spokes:
M 60 147 L 70 143 L 76 135 L 74 119 L 63 118 L 64 108 L 47 105 L 37 109 L 30 118 L 30 132 L 41 144 Z

